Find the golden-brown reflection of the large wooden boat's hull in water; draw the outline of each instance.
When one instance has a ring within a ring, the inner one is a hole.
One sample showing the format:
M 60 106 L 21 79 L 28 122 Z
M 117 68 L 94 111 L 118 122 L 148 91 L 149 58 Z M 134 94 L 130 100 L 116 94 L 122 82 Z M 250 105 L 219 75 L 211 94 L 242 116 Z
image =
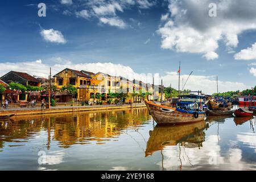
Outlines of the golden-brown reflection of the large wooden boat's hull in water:
M 186 147 L 200 147 L 204 142 L 203 130 L 207 127 L 205 121 L 176 126 L 156 126 L 150 131 L 147 141 L 146 157 L 163 150 L 166 146 L 176 146 L 178 143 Z

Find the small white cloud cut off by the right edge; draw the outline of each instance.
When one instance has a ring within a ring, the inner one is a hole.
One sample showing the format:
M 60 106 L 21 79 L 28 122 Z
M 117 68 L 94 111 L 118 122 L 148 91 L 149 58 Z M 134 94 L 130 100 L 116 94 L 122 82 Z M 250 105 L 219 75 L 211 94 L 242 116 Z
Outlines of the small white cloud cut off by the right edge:
M 236 60 L 256 60 L 256 43 L 234 55 Z

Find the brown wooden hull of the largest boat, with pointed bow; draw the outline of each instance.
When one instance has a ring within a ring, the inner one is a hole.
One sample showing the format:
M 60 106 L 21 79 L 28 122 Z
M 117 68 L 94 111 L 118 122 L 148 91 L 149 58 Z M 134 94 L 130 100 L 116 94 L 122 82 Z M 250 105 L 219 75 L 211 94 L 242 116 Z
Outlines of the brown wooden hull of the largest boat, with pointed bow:
M 145 100 L 145 104 L 159 125 L 177 125 L 205 120 L 205 111 L 188 111 L 157 105 Z

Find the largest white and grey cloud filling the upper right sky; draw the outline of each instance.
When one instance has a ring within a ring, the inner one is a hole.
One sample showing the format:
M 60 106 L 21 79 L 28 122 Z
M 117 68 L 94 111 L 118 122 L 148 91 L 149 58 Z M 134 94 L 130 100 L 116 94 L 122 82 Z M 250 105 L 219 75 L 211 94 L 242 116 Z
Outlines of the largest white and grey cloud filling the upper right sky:
M 217 17 L 209 16 L 210 3 L 217 4 Z M 201 53 L 207 60 L 217 59 L 220 41 L 230 52 L 238 46 L 238 35 L 246 30 L 256 30 L 255 7 L 256 2 L 249 0 L 170 0 L 168 13 L 171 17 L 162 16 L 166 21 L 158 30 L 162 48 Z

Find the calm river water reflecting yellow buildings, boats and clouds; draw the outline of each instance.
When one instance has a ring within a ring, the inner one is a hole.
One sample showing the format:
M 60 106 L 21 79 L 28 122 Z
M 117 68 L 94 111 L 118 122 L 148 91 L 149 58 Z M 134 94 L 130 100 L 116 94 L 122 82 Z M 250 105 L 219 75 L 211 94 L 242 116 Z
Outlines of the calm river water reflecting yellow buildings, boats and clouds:
M 255 124 L 156 126 L 146 109 L 2 119 L 0 170 L 255 170 Z

